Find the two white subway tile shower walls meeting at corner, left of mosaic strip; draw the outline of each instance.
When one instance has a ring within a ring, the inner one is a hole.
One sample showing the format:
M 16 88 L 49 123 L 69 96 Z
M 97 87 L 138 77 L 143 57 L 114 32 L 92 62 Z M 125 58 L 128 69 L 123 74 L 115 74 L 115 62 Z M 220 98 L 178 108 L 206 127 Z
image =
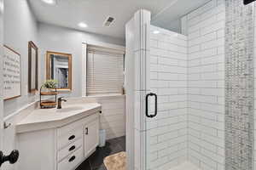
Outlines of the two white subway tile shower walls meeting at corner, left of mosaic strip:
M 159 96 L 159 115 L 147 124 L 148 169 L 191 161 L 201 170 L 224 170 L 224 0 L 197 8 L 183 25 L 187 44 L 151 26 L 150 88 Z

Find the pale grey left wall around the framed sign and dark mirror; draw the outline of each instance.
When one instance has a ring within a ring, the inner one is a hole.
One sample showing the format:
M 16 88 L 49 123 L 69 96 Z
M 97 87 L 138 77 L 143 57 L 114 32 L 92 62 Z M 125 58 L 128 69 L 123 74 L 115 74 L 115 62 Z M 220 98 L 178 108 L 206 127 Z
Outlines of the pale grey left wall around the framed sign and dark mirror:
M 29 41 L 38 45 L 37 21 L 29 4 L 26 0 L 4 1 L 3 43 L 18 52 L 21 59 L 21 97 L 4 101 L 4 116 L 37 99 L 36 95 L 27 93 Z

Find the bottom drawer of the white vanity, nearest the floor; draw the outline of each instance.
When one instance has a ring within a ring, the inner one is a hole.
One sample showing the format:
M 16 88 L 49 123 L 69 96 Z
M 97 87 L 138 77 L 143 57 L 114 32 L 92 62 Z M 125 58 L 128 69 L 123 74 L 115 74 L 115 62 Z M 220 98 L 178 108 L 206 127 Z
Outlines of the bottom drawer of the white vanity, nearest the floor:
M 83 149 L 79 148 L 79 150 L 76 150 L 73 154 L 58 163 L 58 170 L 72 170 L 83 161 L 83 158 Z

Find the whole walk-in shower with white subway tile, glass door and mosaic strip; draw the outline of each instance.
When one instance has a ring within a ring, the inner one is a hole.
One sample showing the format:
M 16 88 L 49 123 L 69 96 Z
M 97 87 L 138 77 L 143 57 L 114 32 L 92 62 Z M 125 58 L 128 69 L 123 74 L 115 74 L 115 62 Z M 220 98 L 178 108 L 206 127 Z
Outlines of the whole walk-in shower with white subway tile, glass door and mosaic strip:
M 253 6 L 211 0 L 179 33 L 143 9 L 126 24 L 129 170 L 256 169 Z

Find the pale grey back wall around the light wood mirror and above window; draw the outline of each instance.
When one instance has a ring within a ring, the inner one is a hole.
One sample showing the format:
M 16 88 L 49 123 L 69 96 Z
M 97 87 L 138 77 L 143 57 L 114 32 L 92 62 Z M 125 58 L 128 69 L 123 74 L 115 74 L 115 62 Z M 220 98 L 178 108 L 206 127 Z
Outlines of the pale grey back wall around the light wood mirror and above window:
M 55 51 L 61 53 L 72 54 L 73 58 L 73 72 L 72 82 L 73 89 L 69 96 L 82 96 L 82 78 L 81 78 L 81 62 L 82 62 L 82 42 L 107 42 L 116 45 L 124 45 L 123 39 L 101 36 L 83 31 L 76 31 L 60 26 L 52 26 L 48 24 L 39 23 L 38 34 L 40 42 L 40 65 L 42 80 L 45 80 L 45 55 L 46 51 Z

